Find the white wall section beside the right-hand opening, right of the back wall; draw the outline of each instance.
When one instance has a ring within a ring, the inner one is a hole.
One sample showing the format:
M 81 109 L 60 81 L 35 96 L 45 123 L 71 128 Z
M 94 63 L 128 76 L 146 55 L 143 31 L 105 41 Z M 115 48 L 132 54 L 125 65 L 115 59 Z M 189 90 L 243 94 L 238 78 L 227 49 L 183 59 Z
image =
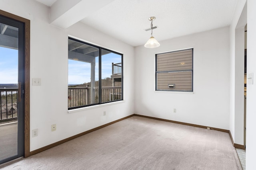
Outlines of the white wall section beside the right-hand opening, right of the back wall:
M 246 0 L 238 0 L 230 25 L 230 132 L 239 145 L 244 145 L 245 3 Z

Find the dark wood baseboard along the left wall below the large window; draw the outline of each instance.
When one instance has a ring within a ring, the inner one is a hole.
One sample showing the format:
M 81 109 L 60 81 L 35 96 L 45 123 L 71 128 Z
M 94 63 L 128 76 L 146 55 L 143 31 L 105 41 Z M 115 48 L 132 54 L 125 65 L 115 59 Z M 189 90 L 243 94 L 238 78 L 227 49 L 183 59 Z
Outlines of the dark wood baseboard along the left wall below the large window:
M 132 117 L 132 116 L 134 116 L 134 115 L 132 114 L 132 115 L 129 115 L 129 116 L 123 117 L 123 118 L 121 118 L 121 119 L 118 119 L 118 120 L 112 121 L 112 122 L 107 123 L 107 124 L 105 124 L 105 125 L 101 125 L 101 126 L 99 126 L 99 127 L 95 127 L 95 128 L 93 128 L 93 129 L 90 129 L 90 130 L 85 131 L 85 132 L 83 132 L 83 133 L 79 133 L 79 134 L 74 135 L 74 136 L 72 136 L 72 137 L 69 137 L 69 138 L 63 139 L 63 140 L 58 141 L 58 142 L 56 142 L 56 143 L 52 143 L 52 144 L 47 145 L 47 146 L 45 146 L 45 147 L 42 147 L 42 148 L 39 148 L 39 149 L 33 150 L 33 151 L 31 151 L 31 152 L 30 152 L 30 155 L 32 156 L 32 155 L 34 155 L 34 154 L 38 154 L 38 153 L 40 153 L 40 152 L 43 152 L 44 150 L 47 150 L 47 149 L 50 149 L 50 148 L 56 147 L 56 146 L 58 146 L 58 145 L 60 145 L 60 144 L 62 144 L 62 143 L 65 143 L 65 142 L 71 141 L 71 140 L 73 140 L 73 139 L 76 139 L 76 138 L 78 138 L 78 137 L 81 137 L 81 136 L 83 136 L 83 135 L 86 135 L 86 134 L 88 134 L 88 133 L 91 133 L 91 132 L 93 132 L 93 131 L 96 131 L 96 130 L 101 129 L 101 128 L 103 128 L 103 127 L 106 127 L 106 126 L 108 126 L 108 125 L 112 125 L 112 124 L 114 124 L 114 123 L 116 123 L 116 122 L 118 122 L 118 121 L 121 121 L 121 120 L 127 119 L 127 118 Z

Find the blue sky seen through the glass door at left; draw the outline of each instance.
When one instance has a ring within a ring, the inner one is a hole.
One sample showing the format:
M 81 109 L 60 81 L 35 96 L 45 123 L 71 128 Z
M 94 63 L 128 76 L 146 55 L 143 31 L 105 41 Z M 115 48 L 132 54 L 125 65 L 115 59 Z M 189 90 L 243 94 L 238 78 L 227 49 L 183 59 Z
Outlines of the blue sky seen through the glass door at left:
M 18 84 L 18 50 L 0 47 L 0 84 Z

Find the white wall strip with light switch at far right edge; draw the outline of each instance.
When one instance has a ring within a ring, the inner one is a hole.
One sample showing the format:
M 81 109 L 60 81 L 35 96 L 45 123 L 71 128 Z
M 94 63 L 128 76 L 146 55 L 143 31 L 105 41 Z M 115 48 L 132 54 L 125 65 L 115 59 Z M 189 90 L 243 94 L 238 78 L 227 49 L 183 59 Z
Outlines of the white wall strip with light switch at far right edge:
M 256 153 L 256 1 L 247 0 L 247 74 L 254 73 L 254 84 L 247 86 L 247 117 L 246 117 L 246 169 L 255 170 L 255 153 Z

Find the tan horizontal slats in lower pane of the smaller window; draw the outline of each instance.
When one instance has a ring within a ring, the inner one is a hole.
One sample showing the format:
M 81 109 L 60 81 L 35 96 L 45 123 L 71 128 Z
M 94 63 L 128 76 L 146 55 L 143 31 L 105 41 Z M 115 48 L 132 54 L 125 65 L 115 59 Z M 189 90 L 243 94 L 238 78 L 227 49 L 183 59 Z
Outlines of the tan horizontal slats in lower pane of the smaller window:
M 192 91 L 192 71 L 159 72 L 157 77 L 157 90 Z M 175 84 L 169 87 L 169 84 Z

